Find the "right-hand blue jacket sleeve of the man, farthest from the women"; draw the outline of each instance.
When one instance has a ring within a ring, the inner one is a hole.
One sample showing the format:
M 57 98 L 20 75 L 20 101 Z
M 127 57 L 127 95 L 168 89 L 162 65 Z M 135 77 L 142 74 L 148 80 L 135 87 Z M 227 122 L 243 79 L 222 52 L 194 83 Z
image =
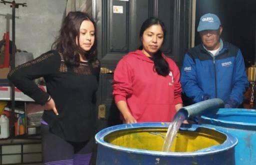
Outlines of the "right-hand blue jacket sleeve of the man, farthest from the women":
M 236 63 L 235 63 L 235 75 L 232 91 L 229 99 L 237 101 L 239 104 L 243 102 L 243 93 L 248 87 L 248 77 L 245 72 L 244 61 L 240 49 L 238 49 L 236 54 Z

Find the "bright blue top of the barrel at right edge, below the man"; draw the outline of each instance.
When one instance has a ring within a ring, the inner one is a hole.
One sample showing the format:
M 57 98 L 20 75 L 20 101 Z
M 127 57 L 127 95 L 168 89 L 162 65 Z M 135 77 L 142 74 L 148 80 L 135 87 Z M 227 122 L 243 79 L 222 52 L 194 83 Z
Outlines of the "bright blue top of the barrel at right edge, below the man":
M 256 110 L 219 108 L 215 114 L 202 115 L 200 122 L 236 129 L 256 130 Z

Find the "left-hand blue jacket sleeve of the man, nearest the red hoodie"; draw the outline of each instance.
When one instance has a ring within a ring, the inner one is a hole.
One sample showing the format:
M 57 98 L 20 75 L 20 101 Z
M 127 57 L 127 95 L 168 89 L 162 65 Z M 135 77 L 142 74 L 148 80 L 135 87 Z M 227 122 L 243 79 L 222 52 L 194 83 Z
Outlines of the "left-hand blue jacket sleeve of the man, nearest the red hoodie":
M 198 86 L 195 63 L 188 53 L 184 56 L 180 81 L 182 90 L 186 96 L 191 98 L 194 102 L 201 101 L 203 91 Z

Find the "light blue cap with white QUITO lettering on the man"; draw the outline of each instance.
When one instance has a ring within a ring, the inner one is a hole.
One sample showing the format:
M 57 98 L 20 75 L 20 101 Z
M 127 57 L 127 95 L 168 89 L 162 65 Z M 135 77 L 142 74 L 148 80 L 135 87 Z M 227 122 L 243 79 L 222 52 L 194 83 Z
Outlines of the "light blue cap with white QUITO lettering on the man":
M 216 30 L 220 26 L 220 20 L 217 15 L 213 13 L 206 13 L 200 17 L 197 31 L 202 30 Z

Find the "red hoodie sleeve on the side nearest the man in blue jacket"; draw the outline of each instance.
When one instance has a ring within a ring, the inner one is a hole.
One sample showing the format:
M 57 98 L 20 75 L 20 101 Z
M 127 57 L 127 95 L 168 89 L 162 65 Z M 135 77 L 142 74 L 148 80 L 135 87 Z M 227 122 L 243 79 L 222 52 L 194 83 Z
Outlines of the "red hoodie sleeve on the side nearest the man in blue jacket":
M 182 103 L 181 99 L 181 84 L 180 84 L 180 73 L 177 65 L 173 62 L 173 79 L 174 79 L 174 104 Z

